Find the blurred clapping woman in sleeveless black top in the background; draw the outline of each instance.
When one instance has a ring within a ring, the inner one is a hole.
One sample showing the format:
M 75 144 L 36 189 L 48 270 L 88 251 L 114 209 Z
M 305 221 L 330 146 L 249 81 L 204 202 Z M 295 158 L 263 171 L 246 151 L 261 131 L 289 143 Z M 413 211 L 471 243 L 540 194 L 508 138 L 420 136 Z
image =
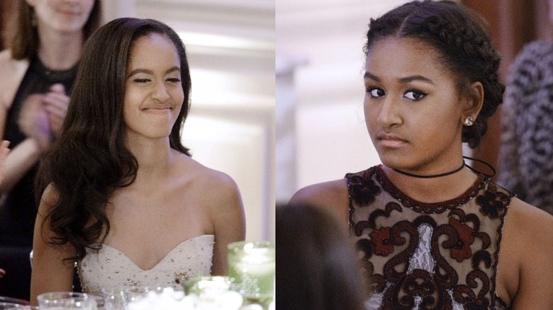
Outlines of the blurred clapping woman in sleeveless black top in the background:
M 21 0 L 0 52 L 0 137 L 11 142 L 0 205 L 0 295 L 29 299 L 38 161 L 60 132 L 84 41 L 100 0 Z

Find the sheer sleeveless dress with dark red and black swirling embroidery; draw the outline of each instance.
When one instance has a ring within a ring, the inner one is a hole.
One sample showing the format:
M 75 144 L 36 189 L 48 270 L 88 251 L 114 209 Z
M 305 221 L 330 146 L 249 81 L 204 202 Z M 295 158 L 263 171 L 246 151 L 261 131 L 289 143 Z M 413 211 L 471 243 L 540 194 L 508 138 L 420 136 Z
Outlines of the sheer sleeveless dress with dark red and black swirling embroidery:
M 507 308 L 496 272 L 511 193 L 479 175 L 461 196 L 424 203 L 401 193 L 380 166 L 345 178 L 369 309 Z

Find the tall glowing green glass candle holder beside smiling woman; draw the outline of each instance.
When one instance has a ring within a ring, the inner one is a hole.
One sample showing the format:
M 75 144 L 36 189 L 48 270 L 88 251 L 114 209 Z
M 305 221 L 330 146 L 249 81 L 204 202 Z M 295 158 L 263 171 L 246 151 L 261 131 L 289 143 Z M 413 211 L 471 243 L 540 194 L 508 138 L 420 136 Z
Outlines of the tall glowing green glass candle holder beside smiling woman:
M 247 302 L 265 308 L 274 294 L 274 243 L 239 241 L 228 245 L 230 287 Z

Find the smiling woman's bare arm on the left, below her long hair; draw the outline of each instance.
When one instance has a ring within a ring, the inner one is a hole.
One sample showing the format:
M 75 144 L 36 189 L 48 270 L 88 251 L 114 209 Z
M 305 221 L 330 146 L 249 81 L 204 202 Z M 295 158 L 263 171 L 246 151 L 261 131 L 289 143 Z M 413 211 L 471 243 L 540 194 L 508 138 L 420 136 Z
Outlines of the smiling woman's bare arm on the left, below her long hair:
M 30 304 L 37 304 L 36 297 L 46 292 L 71 292 L 74 262 L 65 260 L 75 255 L 69 244 L 53 246 L 48 241 L 55 234 L 50 230 L 47 214 L 57 201 L 57 192 L 52 185 L 46 188 L 35 222 L 33 238 L 33 270 L 30 279 Z

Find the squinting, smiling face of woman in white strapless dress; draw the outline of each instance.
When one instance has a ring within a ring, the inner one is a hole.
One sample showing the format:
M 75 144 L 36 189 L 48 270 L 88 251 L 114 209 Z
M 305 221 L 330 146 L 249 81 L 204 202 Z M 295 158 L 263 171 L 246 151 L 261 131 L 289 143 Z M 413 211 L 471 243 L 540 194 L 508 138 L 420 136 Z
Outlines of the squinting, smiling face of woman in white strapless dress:
M 163 35 L 134 42 L 123 101 L 127 137 L 169 137 L 184 101 L 180 66 L 177 49 Z

